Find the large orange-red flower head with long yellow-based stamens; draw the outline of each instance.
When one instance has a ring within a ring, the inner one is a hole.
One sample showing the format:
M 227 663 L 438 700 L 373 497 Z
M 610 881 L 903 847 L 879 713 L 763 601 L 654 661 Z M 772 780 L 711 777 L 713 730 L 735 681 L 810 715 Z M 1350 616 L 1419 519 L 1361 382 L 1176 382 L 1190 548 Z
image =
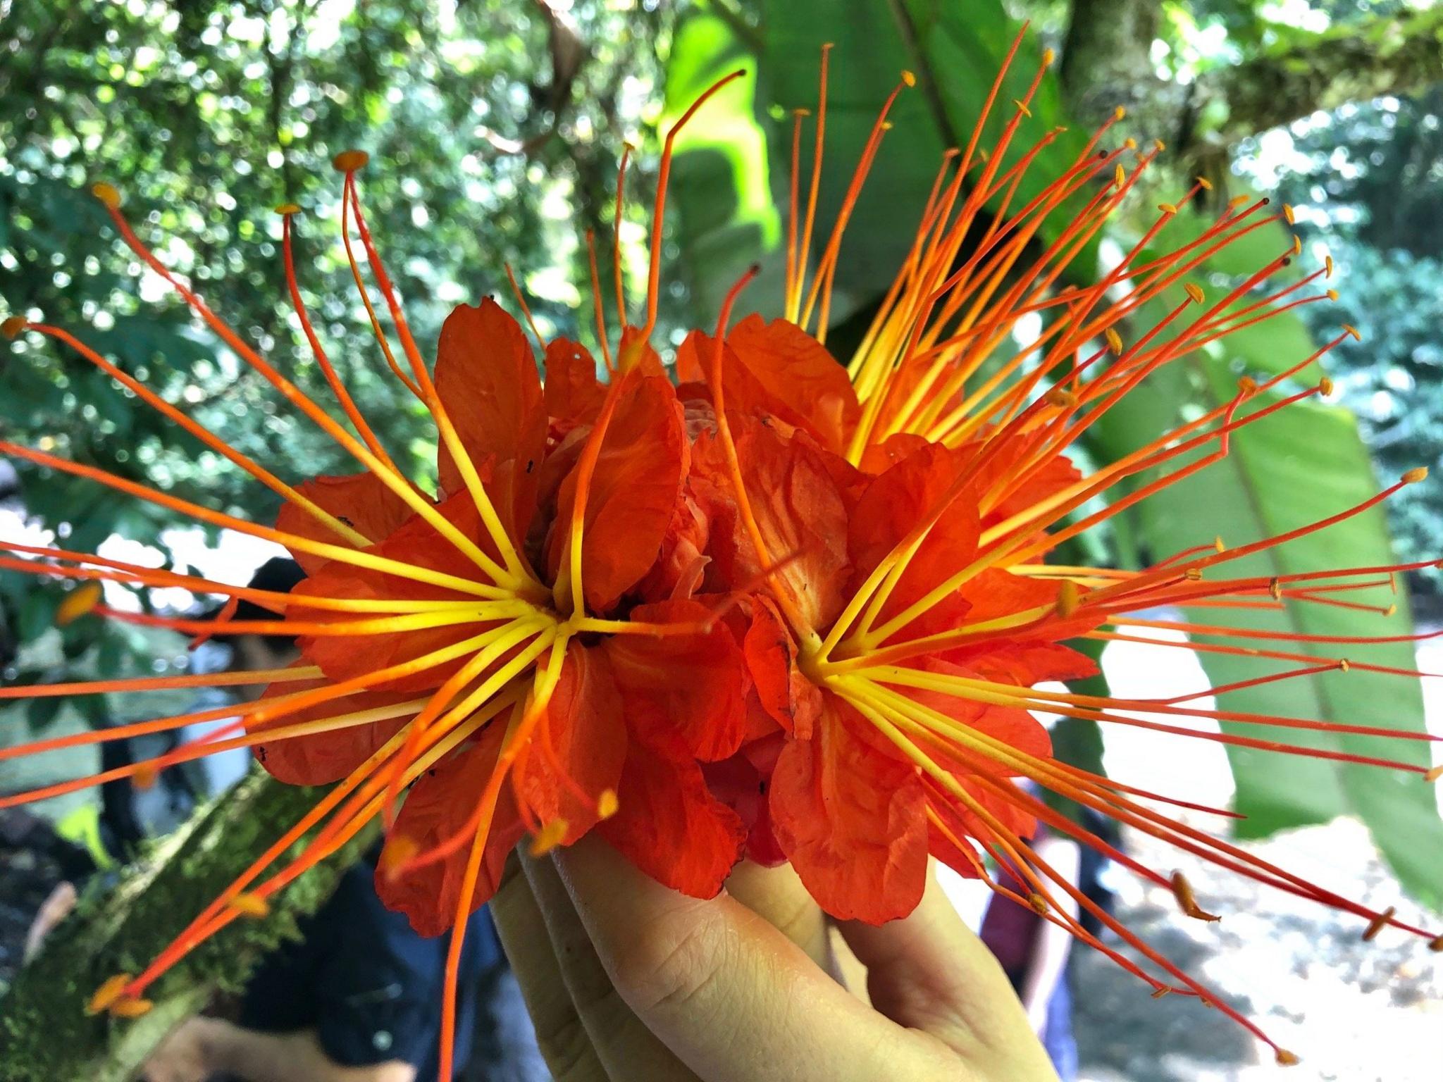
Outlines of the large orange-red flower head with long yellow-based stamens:
M 999 75 L 968 144 L 944 159 L 912 248 L 872 327 L 856 353 L 841 359 L 828 352 L 825 336 L 843 231 L 879 153 L 887 111 L 913 82 L 909 74 L 883 105 L 843 212 L 815 260 L 815 196 L 802 205 L 794 151 L 784 317 L 733 319 L 749 274 L 727 296 L 717 326 L 691 333 L 675 356 L 664 359 L 649 340 L 672 143 L 716 88 L 681 117 L 661 157 L 645 319 L 629 323 L 619 297 L 615 348 L 593 290 L 605 379 L 583 346 L 561 339 L 541 342 L 538 371 L 525 332 L 489 299 L 450 315 L 429 364 L 367 228 L 355 179 L 364 154 L 341 154 L 345 250 L 397 394 L 416 395 L 436 421 L 436 492 L 418 488 L 387 453 L 312 327 L 293 271 L 296 208 L 280 208 L 287 286 L 345 424 L 169 271 L 126 222 L 118 193 L 98 185 L 115 226 L 149 267 L 361 469 L 293 485 L 69 332 L 19 317 L 6 322 L 12 336 L 38 332 L 95 364 L 271 488 L 284 506 L 274 527 L 266 527 L 38 450 L 10 443 L 0 443 L 0 450 L 277 541 L 306 571 L 306 580 L 284 594 L 85 553 L 6 545 L 17 555 L 0 558 L 0 566 L 79 584 L 63 606 L 65 619 L 91 612 L 195 635 L 293 635 L 302 659 L 283 671 L 219 678 L 6 690 L 0 694 L 20 697 L 268 684 L 258 701 L 240 708 L 0 752 L 13 757 L 237 718 L 159 759 L 0 805 L 126 775 L 144 780 L 231 747 L 253 747 L 284 782 L 332 785 L 144 972 L 108 981 L 91 1007 L 140 1013 L 147 988 L 176 959 L 229 920 L 263 913 L 270 896 L 381 818 L 387 843 L 378 890 L 420 932 L 452 932 L 452 985 L 463 918 L 495 890 L 506 853 L 527 837 L 540 853 L 596 830 L 659 881 L 700 897 L 717 893 L 743 854 L 789 861 L 828 913 L 873 923 L 912 910 L 928 860 L 937 858 L 1066 928 L 1154 994 L 1206 997 L 1268 1040 L 1055 874 L 1029 838 L 1039 822 L 1046 824 L 1167 887 L 1189 916 L 1214 919 L 1192 886 L 1059 815 L 1033 795 L 1036 789 L 1278 890 L 1351 912 L 1368 938 L 1394 926 L 1443 949 L 1443 938 L 1392 910 L 1372 910 L 1179 821 L 1167 809 L 1180 802 L 1165 793 L 1121 785 L 1052 755 L 1035 713 L 1437 779 L 1437 770 L 1418 765 L 1416 755 L 1362 756 L 1274 736 L 1291 729 L 1429 739 L 1420 734 L 1211 710 L 1195 698 L 1128 700 L 1039 688 L 1094 671 L 1069 642 L 1146 638 L 1146 629 L 1160 625 L 1224 639 L 1206 649 L 1278 662 L 1277 672 L 1247 685 L 1349 665 L 1320 652 L 1333 639 L 1299 635 L 1291 643 L 1258 642 L 1264 636 L 1225 623 L 1136 613 L 1163 604 L 1205 603 L 1227 612 L 1346 603 L 1336 594 L 1387 583 L 1411 566 L 1258 579 L 1229 577 L 1229 564 L 1356 515 L 1421 476 L 1413 470 L 1358 506 L 1235 548 L 1199 540 L 1139 570 L 1049 563 L 1058 545 L 1227 456 L 1237 430 L 1326 394 L 1326 377 L 1307 377 L 1309 369 L 1352 332 L 1345 329 L 1267 379 L 1242 379 L 1224 405 L 1082 475 L 1068 449 L 1143 379 L 1231 330 L 1326 299 L 1328 293 L 1307 290 L 1330 268 L 1274 284 L 1297 254 L 1294 242 L 1229 289 L 1205 296 L 1189 274 L 1286 212 L 1268 211 L 1263 199 L 1234 201 L 1201 235 L 1159 254 L 1159 238 L 1177 208 L 1205 188 L 1199 182 L 1176 203 L 1162 205 L 1154 225 L 1102 277 L 1072 284 L 1075 257 L 1088 250 L 1162 147 L 1139 150 L 1131 140 L 1118 140 L 1113 134 L 1123 118 L 1118 111 L 1071 167 L 1022 203 L 1019 177 L 1055 138 L 1045 133 L 1017 146 L 1027 140 L 1029 101 L 1040 78 L 1039 69 L 1027 94 L 1013 102 L 999 138 L 983 147 L 988 114 L 1003 108 L 996 101 Z M 825 88 L 824 50 L 815 169 L 823 167 Z M 798 149 L 801 115 L 795 124 Z M 1040 226 L 1063 208 L 1065 224 L 1043 241 Z M 355 238 L 398 349 L 372 303 Z M 525 313 L 519 294 L 518 302 Z M 1139 332 L 1134 325 L 1152 303 L 1165 303 L 1166 315 Z M 1019 320 L 1035 315 L 1046 317 L 1042 338 L 1022 349 L 1010 345 Z M 1117 495 L 1123 482 L 1126 495 Z M 1092 509 L 1104 493 L 1111 502 Z M 215 623 L 115 612 L 101 604 L 102 581 L 182 586 L 228 597 L 231 609 Z M 276 617 L 237 619 L 240 600 Z M 1351 664 L 1397 678 L 1423 675 Z M 1177 723 L 1153 720 L 1159 716 Z M 1260 726 L 1267 736 L 1186 724 L 1198 718 Z M 307 843 L 300 856 L 289 857 L 302 838 Z M 1059 905 L 1065 896 L 1113 935 L 1104 941 L 1088 932 Z M 1117 942 L 1136 949 L 1146 965 Z M 447 991 L 442 1006 L 447 1049 L 453 1001 Z M 1280 1062 L 1294 1062 L 1273 1047 Z M 449 1052 L 442 1075 L 447 1072 Z

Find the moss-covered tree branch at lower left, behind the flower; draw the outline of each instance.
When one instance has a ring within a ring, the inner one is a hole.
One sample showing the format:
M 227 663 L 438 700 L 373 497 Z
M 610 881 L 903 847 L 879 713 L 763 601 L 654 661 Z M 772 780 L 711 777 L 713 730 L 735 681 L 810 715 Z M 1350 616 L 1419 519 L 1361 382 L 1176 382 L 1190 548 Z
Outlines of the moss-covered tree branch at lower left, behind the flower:
M 235 920 L 198 946 L 152 987 L 149 1014 L 126 1021 L 84 1010 L 107 977 L 140 972 L 322 792 L 281 785 L 257 767 L 118 881 L 89 884 L 0 998 L 0 1082 L 124 1082 L 214 994 L 238 991 L 266 952 L 296 938 L 296 919 L 329 897 L 368 832 L 274 896 L 267 918 Z

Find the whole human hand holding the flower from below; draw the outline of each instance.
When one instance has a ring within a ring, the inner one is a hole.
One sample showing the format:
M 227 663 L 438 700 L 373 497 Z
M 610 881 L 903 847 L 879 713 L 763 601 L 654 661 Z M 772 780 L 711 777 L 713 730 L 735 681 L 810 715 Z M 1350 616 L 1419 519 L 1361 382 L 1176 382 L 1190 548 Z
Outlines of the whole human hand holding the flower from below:
M 557 1082 L 1056 1079 L 935 881 L 903 920 L 838 925 L 869 1006 L 831 975 L 827 920 L 789 868 L 745 866 L 701 902 L 597 838 L 521 866 L 492 915 Z

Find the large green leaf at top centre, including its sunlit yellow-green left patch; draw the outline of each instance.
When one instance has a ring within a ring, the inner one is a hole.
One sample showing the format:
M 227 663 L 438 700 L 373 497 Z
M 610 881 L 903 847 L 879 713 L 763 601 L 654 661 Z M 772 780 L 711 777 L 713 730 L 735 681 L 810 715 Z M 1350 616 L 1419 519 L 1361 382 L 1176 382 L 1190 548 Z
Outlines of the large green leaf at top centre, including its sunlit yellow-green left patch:
M 965 146 L 1019 25 L 997 0 L 760 0 L 756 10 L 753 30 L 739 26 L 734 14 L 723 19 L 707 7 L 697 9 L 683 19 L 671 48 L 667 113 L 672 117 L 732 68 L 749 61 L 759 65 L 755 81 L 749 74 L 709 104 L 681 141 L 687 151 L 677 162 L 681 264 L 700 319 L 714 315 L 720 296 L 753 261 L 763 265 L 753 296 L 765 299 L 763 309 L 779 296 L 781 219 L 772 208 L 786 199 L 789 115 L 792 110 L 815 114 L 821 49 L 830 42 L 834 48 L 814 257 L 843 208 L 882 102 L 903 69 L 918 78 L 889 114 L 892 128 L 847 226 L 833 303 L 833 315 L 844 316 L 877 297 L 906 255 L 942 154 L 947 147 Z M 1039 46 L 1029 38 L 983 130 L 984 147 L 1016 114 L 1013 100 L 1026 94 L 1039 62 Z M 743 108 L 755 108 L 755 115 L 765 120 L 766 136 Z M 1042 81 L 1030 113 L 1013 143 L 1013 159 L 1063 126 L 1051 76 Z M 814 118 L 802 138 L 804 195 L 811 176 Z M 1022 206 L 1059 176 L 1082 141 L 1079 131 L 1056 136 L 1023 177 L 1013 206 Z M 765 211 L 762 196 L 768 201 Z M 1056 215 L 1043 235 L 1055 235 L 1065 219 L 1065 214 Z

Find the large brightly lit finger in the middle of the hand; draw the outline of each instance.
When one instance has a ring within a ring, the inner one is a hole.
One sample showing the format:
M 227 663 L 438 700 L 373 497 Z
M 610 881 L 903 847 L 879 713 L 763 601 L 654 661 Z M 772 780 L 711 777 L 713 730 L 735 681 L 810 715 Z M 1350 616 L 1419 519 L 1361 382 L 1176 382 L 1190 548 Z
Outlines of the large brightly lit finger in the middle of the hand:
M 678 894 L 592 838 L 556 861 L 616 991 L 704 1082 L 973 1078 L 736 899 Z

